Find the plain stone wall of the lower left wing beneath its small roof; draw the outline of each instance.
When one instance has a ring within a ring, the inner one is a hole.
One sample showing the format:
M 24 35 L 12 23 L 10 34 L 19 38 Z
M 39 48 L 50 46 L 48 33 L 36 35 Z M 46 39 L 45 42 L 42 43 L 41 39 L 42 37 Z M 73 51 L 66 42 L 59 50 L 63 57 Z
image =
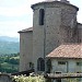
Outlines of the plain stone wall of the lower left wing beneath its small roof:
M 30 70 L 33 57 L 33 32 L 20 33 L 20 71 Z

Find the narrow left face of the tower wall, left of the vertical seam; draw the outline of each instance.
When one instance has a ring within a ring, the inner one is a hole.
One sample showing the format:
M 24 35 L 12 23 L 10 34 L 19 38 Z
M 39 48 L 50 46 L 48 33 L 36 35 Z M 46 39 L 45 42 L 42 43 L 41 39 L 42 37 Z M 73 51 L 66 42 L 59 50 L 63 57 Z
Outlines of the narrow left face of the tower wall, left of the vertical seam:
M 36 7 L 33 15 L 33 62 L 35 70 L 37 70 L 37 59 L 44 58 L 44 25 L 39 25 L 39 9 L 44 7 Z

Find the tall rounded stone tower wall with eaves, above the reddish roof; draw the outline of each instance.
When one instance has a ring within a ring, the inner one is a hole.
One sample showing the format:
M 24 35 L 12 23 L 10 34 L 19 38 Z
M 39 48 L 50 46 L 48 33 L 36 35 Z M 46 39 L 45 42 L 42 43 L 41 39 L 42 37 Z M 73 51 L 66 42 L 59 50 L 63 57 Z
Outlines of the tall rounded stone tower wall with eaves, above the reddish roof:
M 60 1 L 39 2 L 33 7 L 33 60 L 37 70 L 37 59 L 45 58 L 62 43 L 78 42 L 78 8 Z M 44 9 L 44 25 L 39 25 L 39 10 Z M 74 36 L 73 36 L 74 35 Z M 77 39 L 77 40 L 74 40 Z

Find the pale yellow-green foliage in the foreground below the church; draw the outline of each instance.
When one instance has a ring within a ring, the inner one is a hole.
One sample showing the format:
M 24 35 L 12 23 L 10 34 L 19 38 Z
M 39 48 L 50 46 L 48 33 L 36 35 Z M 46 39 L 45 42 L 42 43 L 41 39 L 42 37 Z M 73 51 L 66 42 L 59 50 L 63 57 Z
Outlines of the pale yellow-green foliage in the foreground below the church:
M 13 78 L 13 82 L 45 82 L 45 78 L 43 75 L 37 77 L 25 77 L 25 75 L 19 75 Z

